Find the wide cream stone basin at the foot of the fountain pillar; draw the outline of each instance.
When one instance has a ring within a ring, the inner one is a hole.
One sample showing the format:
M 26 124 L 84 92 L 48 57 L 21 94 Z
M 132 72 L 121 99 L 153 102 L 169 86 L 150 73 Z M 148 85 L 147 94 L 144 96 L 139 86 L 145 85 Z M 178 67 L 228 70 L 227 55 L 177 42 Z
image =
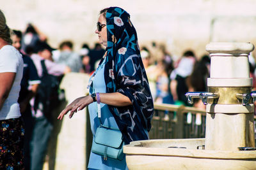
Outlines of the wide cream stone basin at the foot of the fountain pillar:
M 129 169 L 256 169 L 256 150 L 204 150 L 204 144 L 204 138 L 134 141 L 124 153 Z

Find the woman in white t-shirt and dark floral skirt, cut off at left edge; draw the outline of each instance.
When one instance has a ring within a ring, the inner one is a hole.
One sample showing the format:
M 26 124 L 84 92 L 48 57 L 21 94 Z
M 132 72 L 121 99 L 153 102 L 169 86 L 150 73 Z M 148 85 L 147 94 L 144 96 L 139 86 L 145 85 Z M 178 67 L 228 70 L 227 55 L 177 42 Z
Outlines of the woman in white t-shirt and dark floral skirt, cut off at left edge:
M 24 169 L 18 97 L 23 60 L 12 46 L 10 29 L 0 10 L 0 169 Z

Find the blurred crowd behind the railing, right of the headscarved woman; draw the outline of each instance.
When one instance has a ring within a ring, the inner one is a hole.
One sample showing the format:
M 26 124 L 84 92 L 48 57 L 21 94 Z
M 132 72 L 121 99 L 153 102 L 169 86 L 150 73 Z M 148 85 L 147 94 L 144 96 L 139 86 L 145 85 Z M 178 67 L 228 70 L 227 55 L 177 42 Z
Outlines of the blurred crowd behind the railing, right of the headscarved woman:
M 152 43 L 141 48 L 141 58 L 145 66 L 150 90 L 155 103 L 183 104 L 192 106 L 186 99 L 186 92 L 207 92 L 207 78 L 210 77 L 211 58 L 205 54 L 196 56 L 193 50 L 183 52 L 178 60 L 173 60 L 172 54 L 166 51 L 164 45 Z M 175 57 L 176 58 L 176 57 Z M 255 59 L 249 55 L 250 77 L 255 83 Z M 202 102 L 195 100 L 196 108 L 205 108 Z

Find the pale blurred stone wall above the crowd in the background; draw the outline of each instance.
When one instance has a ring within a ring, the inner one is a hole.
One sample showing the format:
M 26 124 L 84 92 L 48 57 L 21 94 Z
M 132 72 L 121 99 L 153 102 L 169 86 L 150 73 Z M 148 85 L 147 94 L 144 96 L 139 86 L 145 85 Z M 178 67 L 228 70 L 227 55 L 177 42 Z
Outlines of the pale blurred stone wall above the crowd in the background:
M 209 41 L 243 41 L 256 44 L 256 1 L 254 0 L 0 0 L 8 24 L 22 29 L 32 22 L 58 47 L 72 39 L 76 50 L 83 42 L 97 42 L 98 13 L 108 6 L 120 6 L 131 14 L 140 45 L 166 43 L 180 56 L 193 49 L 198 57 Z

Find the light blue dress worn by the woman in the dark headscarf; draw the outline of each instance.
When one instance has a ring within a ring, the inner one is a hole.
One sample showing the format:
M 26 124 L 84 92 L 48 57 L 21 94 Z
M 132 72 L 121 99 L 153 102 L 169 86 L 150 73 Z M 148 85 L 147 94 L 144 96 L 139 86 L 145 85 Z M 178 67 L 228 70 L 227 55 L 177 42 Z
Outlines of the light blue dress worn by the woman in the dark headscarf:
M 93 78 L 92 86 L 90 87 L 90 94 L 99 92 L 106 93 L 106 85 L 104 81 L 104 66 L 105 60 L 103 60 L 102 64 L 95 71 L 95 77 Z M 92 77 L 91 77 L 92 78 Z M 91 79 L 90 78 L 90 79 Z M 103 125 L 108 127 L 118 129 L 115 118 L 112 113 L 109 111 L 107 104 L 100 103 L 101 108 L 101 122 Z M 97 127 L 100 125 L 99 118 L 97 117 L 97 102 L 94 102 L 88 106 L 90 113 L 90 123 L 93 134 L 93 140 L 95 136 L 95 132 Z M 95 153 L 90 153 L 90 159 L 88 164 L 88 169 L 128 169 L 125 162 L 125 157 L 122 161 L 115 159 L 107 159 L 104 160 L 102 156 L 97 155 Z

